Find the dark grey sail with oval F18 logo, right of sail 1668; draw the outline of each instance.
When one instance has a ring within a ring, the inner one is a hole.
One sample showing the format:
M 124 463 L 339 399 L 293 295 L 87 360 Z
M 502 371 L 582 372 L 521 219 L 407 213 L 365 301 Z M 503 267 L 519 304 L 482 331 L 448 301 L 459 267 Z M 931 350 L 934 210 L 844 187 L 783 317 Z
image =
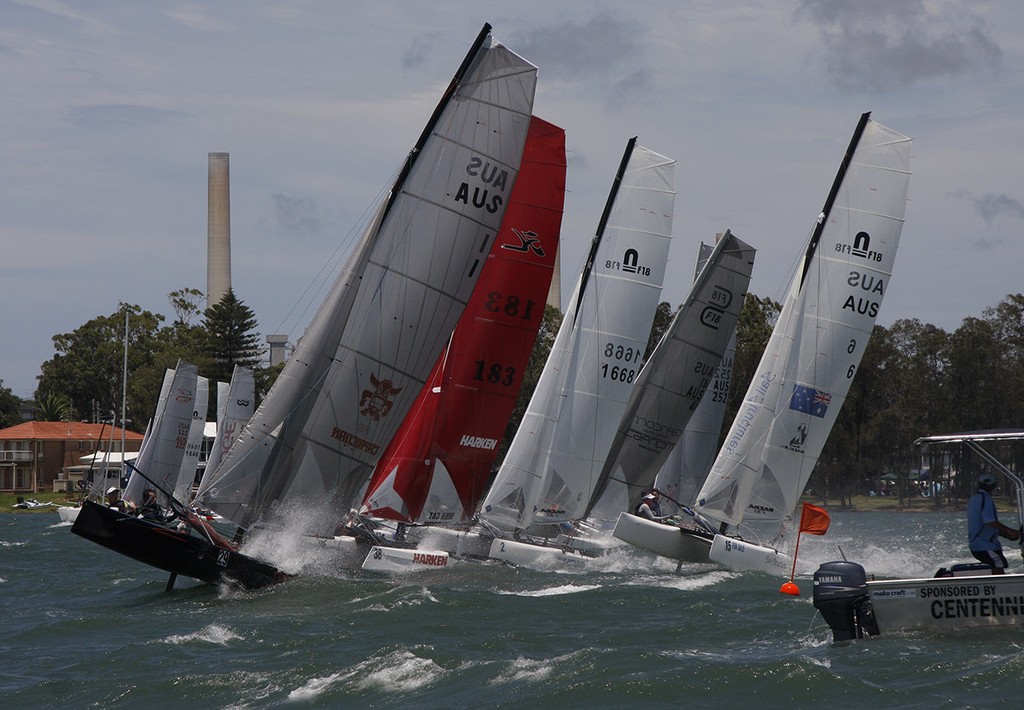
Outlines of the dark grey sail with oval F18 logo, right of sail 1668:
M 653 486 L 722 363 L 750 285 L 754 254 L 753 247 L 729 232 L 715 245 L 637 377 L 594 492 L 595 516 L 613 520 L 632 511 Z

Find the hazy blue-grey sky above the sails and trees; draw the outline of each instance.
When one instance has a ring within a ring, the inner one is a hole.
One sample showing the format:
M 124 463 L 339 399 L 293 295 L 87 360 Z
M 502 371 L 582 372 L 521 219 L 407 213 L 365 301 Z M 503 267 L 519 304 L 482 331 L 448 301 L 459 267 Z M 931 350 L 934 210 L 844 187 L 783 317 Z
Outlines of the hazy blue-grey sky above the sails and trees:
M 913 139 L 879 323 L 1022 291 L 1018 0 L 0 0 L 2 385 L 31 398 L 53 336 L 121 302 L 169 322 L 205 290 L 209 153 L 234 292 L 297 341 L 484 23 L 566 132 L 563 291 L 638 136 L 677 161 L 663 300 L 725 228 L 781 299 L 865 111 Z

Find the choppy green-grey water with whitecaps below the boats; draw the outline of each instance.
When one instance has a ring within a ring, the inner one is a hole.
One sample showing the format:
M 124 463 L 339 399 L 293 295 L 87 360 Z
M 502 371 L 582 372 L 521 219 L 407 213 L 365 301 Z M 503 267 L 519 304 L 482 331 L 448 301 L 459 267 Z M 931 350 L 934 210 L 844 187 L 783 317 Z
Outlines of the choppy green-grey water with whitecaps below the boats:
M 635 551 L 585 572 L 342 570 L 256 592 L 179 579 L 166 593 L 163 573 L 55 513 L 0 514 L 0 705 L 1014 707 L 1020 630 L 836 645 L 811 604 L 810 574 L 838 547 L 880 576 L 929 576 L 967 560 L 964 526 L 834 512 L 826 536 L 802 538 L 801 597 L 781 579 L 677 575 Z

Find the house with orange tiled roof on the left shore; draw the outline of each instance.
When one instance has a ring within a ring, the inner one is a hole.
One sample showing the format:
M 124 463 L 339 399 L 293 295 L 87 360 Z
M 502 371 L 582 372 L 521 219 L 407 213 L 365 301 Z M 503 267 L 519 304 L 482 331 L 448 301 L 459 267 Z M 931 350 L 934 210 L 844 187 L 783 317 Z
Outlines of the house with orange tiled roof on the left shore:
M 0 493 L 68 490 L 66 469 L 81 469 L 96 452 L 137 452 L 142 434 L 106 424 L 27 421 L 0 429 Z

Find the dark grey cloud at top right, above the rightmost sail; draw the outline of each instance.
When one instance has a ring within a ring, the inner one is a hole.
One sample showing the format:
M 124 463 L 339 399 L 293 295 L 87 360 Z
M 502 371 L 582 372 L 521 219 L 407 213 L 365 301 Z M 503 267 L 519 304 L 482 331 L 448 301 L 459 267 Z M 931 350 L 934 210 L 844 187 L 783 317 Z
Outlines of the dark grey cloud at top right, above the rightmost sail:
M 984 20 L 961 3 L 802 0 L 796 16 L 818 27 L 826 71 L 844 89 L 971 76 L 997 70 L 1002 57 Z

